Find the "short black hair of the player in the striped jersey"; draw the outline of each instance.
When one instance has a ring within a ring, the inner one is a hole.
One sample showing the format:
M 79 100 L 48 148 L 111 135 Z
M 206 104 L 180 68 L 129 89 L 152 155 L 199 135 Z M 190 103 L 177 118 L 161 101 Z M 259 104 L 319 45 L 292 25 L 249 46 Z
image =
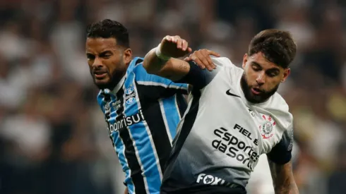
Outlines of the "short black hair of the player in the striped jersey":
M 130 47 L 129 32 L 124 25 L 115 20 L 105 19 L 91 23 L 87 28 L 87 37 L 114 37 L 118 45 L 126 48 Z

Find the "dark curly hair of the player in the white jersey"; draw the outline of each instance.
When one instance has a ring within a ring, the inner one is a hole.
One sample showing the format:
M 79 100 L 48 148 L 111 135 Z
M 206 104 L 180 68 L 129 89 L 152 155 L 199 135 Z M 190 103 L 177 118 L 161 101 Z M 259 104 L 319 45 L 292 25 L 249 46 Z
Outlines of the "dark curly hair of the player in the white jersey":
M 268 29 L 255 35 L 249 44 L 249 56 L 258 52 L 262 52 L 268 61 L 288 68 L 296 55 L 297 45 L 290 32 Z

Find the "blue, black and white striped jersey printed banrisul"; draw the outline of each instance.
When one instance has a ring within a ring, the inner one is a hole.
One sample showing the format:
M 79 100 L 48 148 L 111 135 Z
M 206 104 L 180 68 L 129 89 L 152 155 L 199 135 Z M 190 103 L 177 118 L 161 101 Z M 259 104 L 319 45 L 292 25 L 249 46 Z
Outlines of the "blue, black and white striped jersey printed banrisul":
M 131 61 L 114 90 L 97 96 L 129 193 L 159 193 L 172 139 L 186 109 L 186 84 L 146 73 Z

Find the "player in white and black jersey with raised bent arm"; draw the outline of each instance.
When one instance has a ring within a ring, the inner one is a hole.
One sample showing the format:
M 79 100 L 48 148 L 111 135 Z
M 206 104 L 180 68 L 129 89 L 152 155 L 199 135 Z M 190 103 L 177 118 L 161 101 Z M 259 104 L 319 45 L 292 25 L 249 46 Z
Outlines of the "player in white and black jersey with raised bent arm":
M 193 85 L 161 193 L 246 193 L 261 154 L 268 156 L 275 193 L 299 193 L 291 162 L 293 118 L 276 92 L 296 54 L 290 33 L 259 32 L 242 68 L 225 57 L 210 59 L 206 50 L 189 59 L 210 60 L 213 71 L 176 59 L 188 46 L 179 36 L 167 36 L 143 61 L 148 73 Z

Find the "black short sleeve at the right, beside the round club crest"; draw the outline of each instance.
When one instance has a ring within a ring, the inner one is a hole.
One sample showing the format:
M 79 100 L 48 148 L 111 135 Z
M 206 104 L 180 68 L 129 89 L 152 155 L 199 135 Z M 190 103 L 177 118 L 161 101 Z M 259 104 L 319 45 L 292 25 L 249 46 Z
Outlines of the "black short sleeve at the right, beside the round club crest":
M 267 154 L 270 161 L 276 164 L 286 164 L 292 158 L 293 129 L 282 134 L 280 142 Z

